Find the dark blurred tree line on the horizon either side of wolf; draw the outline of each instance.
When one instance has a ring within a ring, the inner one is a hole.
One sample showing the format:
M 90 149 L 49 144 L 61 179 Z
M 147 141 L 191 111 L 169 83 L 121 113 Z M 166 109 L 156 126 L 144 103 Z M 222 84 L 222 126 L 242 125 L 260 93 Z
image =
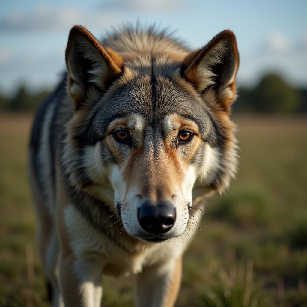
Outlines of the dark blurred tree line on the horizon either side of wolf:
M 0 92 L 0 111 L 33 111 L 49 91 L 31 93 L 21 85 L 12 97 Z M 307 88 L 291 87 L 280 76 L 268 74 L 254 88 L 239 87 L 233 112 L 301 113 L 307 112 Z

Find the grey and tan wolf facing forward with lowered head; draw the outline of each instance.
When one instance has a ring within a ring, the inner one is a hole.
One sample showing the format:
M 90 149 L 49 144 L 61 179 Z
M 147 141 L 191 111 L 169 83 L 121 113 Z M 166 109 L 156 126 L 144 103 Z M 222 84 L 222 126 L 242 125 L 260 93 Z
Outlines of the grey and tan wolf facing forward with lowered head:
M 174 306 L 199 212 L 236 174 L 235 35 L 191 51 L 154 27 L 98 41 L 76 25 L 65 59 L 29 146 L 52 304 L 100 306 L 102 275 L 132 274 L 136 306 Z

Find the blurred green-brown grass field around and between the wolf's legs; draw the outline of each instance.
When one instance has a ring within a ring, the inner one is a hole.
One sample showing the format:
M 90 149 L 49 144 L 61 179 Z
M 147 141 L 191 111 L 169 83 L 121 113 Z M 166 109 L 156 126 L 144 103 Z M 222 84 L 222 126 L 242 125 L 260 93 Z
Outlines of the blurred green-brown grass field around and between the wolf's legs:
M 0 306 L 48 306 L 27 183 L 31 115 L 0 114 Z M 307 306 L 307 118 L 235 118 L 241 166 L 184 257 L 178 307 Z M 103 278 L 103 306 L 133 306 Z

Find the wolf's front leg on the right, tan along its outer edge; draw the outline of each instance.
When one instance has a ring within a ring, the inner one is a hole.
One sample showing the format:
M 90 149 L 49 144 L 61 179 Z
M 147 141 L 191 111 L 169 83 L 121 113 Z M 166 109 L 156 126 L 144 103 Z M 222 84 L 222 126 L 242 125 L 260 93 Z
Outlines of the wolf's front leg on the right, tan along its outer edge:
M 145 268 L 136 276 L 137 307 L 173 307 L 182 277 L 182 256 L 164 265 Z

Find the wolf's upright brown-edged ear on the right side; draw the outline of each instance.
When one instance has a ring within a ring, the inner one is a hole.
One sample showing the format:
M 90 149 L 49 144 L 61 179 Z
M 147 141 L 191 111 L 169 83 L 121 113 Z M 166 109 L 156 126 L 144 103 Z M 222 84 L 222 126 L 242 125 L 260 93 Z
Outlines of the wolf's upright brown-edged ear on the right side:
M 239 67 L 239 52 L 235 35 L 225 30 L 216 35 L 204 48 L 191 52 L 183 61 L 184 76 L 195 84 L 205 97 L 229 113 L 235 100 L 235 76 Z

